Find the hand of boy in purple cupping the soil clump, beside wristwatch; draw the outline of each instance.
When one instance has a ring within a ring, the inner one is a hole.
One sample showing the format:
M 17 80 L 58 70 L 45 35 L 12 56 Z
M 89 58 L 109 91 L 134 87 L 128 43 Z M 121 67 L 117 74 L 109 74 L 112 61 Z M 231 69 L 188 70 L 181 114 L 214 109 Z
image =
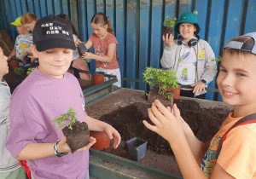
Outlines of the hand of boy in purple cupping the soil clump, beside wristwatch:
M 85 147 L 82 147 L 82 148 L 79 148 L 78 150 L 77 150 L 77 152 L 81 152 L 81 151 L 84 151 L 84 150 L 88 150 L 93 144 L 95 144 L 96 143 L 96 139 L 95 138 L 93 138 L 92 136 L 90 136 L 90 143 L 87 145 L 87 146 L 85 146 Z M 71 149 L 70 149 L 70 147 L 67 145 L 67 137 L 66 136 L 64 136 L 62 139 L 61 139 L 61 141 L 58 143 L 58 145 L 57 145 L 57 148 L 58 148 L 58 151 L 60 152 L 60 153 L 69 153 L 69 152 L 71 152 Z

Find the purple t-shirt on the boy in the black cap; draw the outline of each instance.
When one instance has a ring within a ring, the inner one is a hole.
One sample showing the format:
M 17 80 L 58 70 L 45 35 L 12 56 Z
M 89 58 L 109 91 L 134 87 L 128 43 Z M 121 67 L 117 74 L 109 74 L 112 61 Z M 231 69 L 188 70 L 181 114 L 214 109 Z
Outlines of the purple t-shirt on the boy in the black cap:
M 78 80 L 66 72 L 52 78 L 36 68 L 14 91 L 9 107 L 10 134 L 5 146 L 13 157 L 32 142 L 54 143 L 63 137 L 52 119 L 76 111 L 86 121 L 84 95 Z M 53 149 L 54 150 L 54 149 Z M 83 178 L 89 166 L 89 151 L 68 153 L 58 158 L 27 160 L 32 175 L 38 178 Z

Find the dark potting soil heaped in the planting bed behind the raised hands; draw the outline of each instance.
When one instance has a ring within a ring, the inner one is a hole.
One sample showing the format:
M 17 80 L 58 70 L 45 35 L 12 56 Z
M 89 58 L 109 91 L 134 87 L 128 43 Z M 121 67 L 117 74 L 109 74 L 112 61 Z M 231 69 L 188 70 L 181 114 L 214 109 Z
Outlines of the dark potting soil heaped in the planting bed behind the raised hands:
M 196 101 L 174 100 L 174 102 L 195 136 L 203 142 L 212 139 L 231 112 L 223 107 L 201 108 Z M 112 113 L 104 114 L 99 119 L 111 123 L 119 131 L 124 141 L 137 136 L 148 141 L 148 149 L 156 153 L 170 154 L 172 149 L 169 143 L 153 131 L 148 130 L 143 124 L 143 120 L 152 124 L 147 110 L 150 106 L 151 103 L 135 102 L 127 107 L 119 107 Z

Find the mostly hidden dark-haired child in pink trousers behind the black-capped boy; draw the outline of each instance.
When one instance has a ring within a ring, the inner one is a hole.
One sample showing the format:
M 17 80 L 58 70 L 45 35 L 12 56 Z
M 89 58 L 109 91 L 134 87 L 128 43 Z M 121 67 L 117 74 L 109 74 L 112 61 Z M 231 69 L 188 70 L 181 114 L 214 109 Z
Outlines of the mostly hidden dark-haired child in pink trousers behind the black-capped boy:
M 58 14 L 57 16 L 61 17 L 63 20 L 66 20 L 67 23 L 72 27 L 73 42 L 75 43 L 79 39 L 79 34 L 75 30 L 70 18 L 67 16 L 67 14 Z M 71 62 L 71 66 L 73 66 L 74 68 L 77 68 L 79 70 L 90 71 L 89 66 L 87 65 L 87 62 L 85 62 L 84 60 L 82 60 L 80 58 L 78 49 L 73 50 L 73 59 Z M 91 79 L 91 75 L 88 73 L 84 73 L 84 72 L 79 72 L 79 77 L 81 79 L 85 79 L 85 80 Z

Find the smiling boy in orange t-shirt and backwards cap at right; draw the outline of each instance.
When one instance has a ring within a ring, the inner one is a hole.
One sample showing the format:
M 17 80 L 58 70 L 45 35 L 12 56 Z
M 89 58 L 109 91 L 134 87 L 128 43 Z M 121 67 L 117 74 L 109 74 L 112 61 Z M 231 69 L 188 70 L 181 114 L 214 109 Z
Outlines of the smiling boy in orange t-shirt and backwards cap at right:
M 224 103 L 234 106 L 234 112 L 210 145 L 195 137 L 176 105 L 173 113 L 160 101 L 148 109 L 155 125 L 143 123 L 170 143 L 184 178 L 256 178 L 255 42 L 252 32 L 232 38 L 224 47 L 217 84 Z

